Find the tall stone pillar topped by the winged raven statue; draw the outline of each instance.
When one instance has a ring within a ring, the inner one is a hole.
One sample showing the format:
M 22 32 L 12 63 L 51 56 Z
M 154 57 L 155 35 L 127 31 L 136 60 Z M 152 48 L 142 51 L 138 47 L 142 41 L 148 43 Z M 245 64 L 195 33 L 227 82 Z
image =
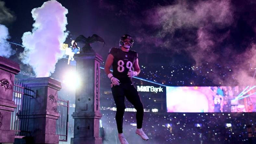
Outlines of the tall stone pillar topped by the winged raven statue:
M 102 57 L 97 53 L 75 54 L 76 73 L 80 86 L 76 88 L 74 144 L 102 144 L 99 137 L 99 78 Z

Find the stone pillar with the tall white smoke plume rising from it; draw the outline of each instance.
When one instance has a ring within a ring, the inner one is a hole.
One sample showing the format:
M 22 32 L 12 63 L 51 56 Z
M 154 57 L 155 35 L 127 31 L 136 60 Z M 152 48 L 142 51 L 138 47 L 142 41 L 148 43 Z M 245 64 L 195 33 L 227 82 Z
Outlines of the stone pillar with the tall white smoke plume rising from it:
M 59 117 L 57 99 L 61 83 L 49 77 L 26 78 L 20 81 L 36 92 L 35 98 L 31 99 L 28 127 L 34 143 L 58 144 L 59 136 L 56 135 L 56 121 Z M 22 117 L 20 120 L 22 121 Z

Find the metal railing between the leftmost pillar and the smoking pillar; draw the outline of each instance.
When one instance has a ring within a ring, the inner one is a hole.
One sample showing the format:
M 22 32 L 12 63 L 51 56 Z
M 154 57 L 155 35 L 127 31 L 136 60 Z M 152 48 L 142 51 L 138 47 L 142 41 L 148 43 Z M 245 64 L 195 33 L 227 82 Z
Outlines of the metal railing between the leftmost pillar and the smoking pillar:
M 23 83 L 15 82 L 13 86 L 13 101 L 17 105 L 11 114 L 10 129 L 15 131 L 15 136 L 29 135 L 30 99 L 34 98 L 34 91 Z M 22 118 L 22 121 L 20 119 Z

